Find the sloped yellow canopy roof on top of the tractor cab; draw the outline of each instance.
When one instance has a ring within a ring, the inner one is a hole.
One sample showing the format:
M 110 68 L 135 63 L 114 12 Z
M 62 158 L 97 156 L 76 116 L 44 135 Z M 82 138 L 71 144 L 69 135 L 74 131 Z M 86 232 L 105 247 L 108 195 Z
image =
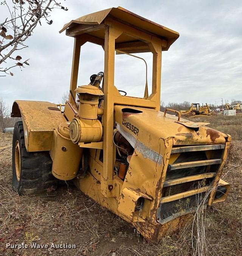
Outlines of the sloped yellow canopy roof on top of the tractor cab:
M 135 13 L 128 11 L 120 6 L 117 8 L 109 8 L 103 11 L 98 11 L 96 13 L 87 14 L 78 19 L 71 20 L 69 23 L 65 24 L 60 33 L 67 28 L 73 27 L 78 24 L 82 25 L 100 25 L 104 22 L 107 17 L 118 20 L 130 27 L 137 28 L 138 30 L 144 31 L 148 34 L 155 35 L 158 38 L 165 39 L 167 41 L 167 46 L 162 50 L 168 50 L 171 44 L 179 37 L 179 33 L 161 26 L 155 22 L 145 19 Z M 104 38 L 104 35 L 95 35 L 99 38 Z

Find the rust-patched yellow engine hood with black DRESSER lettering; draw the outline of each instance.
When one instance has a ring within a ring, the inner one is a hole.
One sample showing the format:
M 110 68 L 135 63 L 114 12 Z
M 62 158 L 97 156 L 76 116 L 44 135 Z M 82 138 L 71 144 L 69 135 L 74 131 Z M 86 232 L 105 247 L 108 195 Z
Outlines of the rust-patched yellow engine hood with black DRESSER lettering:
M 130 110 L 124 106 L 115 106 L 115 121 L 122 129 L 126 130 L 139 141 L 158 151 L 159 139 L 165 140 L 173 138 L 176 145 L 198 145 L 198 144 L 224 144 L 228 135 L 201 126 L 200 123 L 181 119 L 177 122 L 174 115 L 163 116 L 163 112 L 157 112 L 148 108 L 130 107 Z M 140 113 L 133 113 L 138 112 Z M 181 123 L 182 122 L 182 123 Z M 188 126 L 184 124 L 188 124 Z M 197 129 L 192 128 L 194 127 Z M 137 130 L 138 129 L 138 130 Z

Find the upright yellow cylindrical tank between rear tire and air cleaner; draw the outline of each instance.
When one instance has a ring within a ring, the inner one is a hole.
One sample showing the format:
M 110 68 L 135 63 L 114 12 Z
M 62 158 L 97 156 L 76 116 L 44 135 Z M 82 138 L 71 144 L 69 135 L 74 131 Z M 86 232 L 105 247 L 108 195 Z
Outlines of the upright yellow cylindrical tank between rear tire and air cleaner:
M 83 151 L 70 140 L 69 124 L 61 123 L 58 129 L 54 130 L 50 151 L 53 161 L 52 174 L 57 179 L 64 181 L 76 177 Z

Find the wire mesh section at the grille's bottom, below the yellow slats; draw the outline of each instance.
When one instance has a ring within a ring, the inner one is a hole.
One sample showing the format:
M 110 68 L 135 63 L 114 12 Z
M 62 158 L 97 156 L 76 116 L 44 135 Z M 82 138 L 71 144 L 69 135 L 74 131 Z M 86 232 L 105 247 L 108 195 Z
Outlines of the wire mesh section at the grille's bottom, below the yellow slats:
M 204 200 L 206 192 L 187 196 L 167 203 L 161 203 L 157 212 L 157 220 L 164 224 L 184 214 L 195 212 L 201 204 L 206 207 L 207 200 Z

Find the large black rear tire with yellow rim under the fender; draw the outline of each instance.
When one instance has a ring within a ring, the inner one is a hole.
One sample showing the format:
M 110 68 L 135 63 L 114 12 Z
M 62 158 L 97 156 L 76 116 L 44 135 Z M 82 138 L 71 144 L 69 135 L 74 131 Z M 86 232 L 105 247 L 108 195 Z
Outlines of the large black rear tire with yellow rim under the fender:
M 19 195 L 55 189 L 57 179 L 51 173 L 52 160 L 48 151 L 27 152 L 23 122 L 14 126 L 12 138 L 12 188 Z

